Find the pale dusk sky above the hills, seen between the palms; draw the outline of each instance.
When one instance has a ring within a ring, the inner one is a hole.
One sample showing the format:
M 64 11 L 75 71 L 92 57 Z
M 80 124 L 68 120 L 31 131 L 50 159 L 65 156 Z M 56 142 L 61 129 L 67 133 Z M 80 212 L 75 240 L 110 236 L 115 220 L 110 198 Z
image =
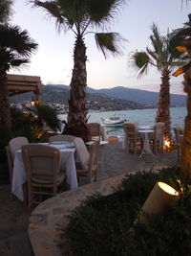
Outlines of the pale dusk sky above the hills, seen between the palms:
M 104 1 L 104 0 L 103 0 Z M 38 50 L 28 67 L 20 72 L 10 73 L 39 76 L 44 84 L 70 84 L 73 70 L 74 34 L 63 31 L 58 34 L 54 19 L 39 8 L 32 8 L 28 0 L 14 0 L 11 23 L 27 30 L 38 43 Z M 117 16 L 111 31 L 119 33 L 127 41 L 124 54 L 119 58 L 105 59 L 96 48 L 93 34 L 85 38 L 87 45 L 87 84 L 99 88 L 124 86 L 129 88 L 159 91 L 159 72 L 152 68 L 141 79 L 137 78 L 129 62 L 135 50 L 145 50 L 150 46 L 151 25 L 155 22 L 165 35 L 167 30 L 178 29 L 188 21 L 191 1 L 181 0 L 130 0 Z M 182 77 L 171 79 L 171 93 L 182 94 Z

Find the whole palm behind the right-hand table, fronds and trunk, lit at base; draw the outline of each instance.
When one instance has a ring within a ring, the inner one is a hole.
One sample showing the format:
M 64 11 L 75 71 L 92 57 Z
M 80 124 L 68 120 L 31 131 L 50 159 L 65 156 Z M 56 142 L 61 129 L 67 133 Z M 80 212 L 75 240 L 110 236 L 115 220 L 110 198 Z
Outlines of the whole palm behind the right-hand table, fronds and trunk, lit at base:
M 165 123 L 165 137 L 171 139 L 170 76 L 174 67 L 182 64 L 182 61 L 180 62 L 181 53 L 175 48 L 179 45 L 180 37 L 176 31 L 160 35 L 156 24 L 153 24 L 151 29 L 152 48 L 147 47 L 144 52 L 135 52 L 132 59 L 138 67 L 138 76 L 146 74 L 150 66 L 156 67 L 161 74 L 156 122 Z

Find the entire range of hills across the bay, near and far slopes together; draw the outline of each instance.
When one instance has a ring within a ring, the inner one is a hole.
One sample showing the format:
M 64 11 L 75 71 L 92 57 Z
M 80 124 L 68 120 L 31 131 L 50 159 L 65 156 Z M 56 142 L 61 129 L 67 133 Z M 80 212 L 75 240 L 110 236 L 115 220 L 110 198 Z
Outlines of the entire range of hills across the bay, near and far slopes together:
M 64 84 L 47 84 L 43 88 L 43 102 L 68 104 L 69 99 L 69 85 Z M 97 109 L 99 107 L 105 107 L 104 102 L 109 106 L 115 104 L 115 110 L 122 109 L 134 109 L 145 107 L 157 107 L 159 101 L 159 92 L 151 92 L 146 90 L 132 89 L 126 87 L 114 87 L 110 89 L 93 89 L 87 87 L 88 100 L 91 105 L 91 109 Z M 11 102 L 24 102 L 30 101 L 32 94 L 23 94 L 14 96 L 11 98 Z M 93 105 L 97 102 L 96 105 Z M 171 94 L 171 106 L 185 106 L 186 96 Z M 93 108 L 92 108 L 93 107 Z

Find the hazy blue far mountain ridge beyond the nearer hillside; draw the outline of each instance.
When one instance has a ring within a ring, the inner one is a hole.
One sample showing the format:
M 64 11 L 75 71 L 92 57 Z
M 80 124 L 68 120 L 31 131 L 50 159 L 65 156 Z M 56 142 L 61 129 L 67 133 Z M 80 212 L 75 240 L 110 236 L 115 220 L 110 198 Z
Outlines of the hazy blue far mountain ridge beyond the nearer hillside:
M 68 85 L 54 84 L 53 86 L 69 89 Z M 87 92 L 91 94 L 105 95 L 121 100 L 133 101 L 139 104 L 157 107 L 159 101 L 159 92 L 151 92 L 146 90 L 132 89 L 117 86 L 110 89 L 93 89 L 87 87 Z M 171 106 L 185 106 L 186 96 L 179 94 L 171 94 Z

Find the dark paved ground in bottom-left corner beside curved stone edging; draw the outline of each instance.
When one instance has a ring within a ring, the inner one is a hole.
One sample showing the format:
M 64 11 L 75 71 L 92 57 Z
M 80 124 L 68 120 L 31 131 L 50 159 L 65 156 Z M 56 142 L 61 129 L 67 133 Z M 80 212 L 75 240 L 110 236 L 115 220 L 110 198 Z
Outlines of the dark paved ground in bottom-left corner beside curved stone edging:
M 0 186 L 0 255 L 32 256 L 27 228 L 29 211 L 11 196 L 10 185 Z

